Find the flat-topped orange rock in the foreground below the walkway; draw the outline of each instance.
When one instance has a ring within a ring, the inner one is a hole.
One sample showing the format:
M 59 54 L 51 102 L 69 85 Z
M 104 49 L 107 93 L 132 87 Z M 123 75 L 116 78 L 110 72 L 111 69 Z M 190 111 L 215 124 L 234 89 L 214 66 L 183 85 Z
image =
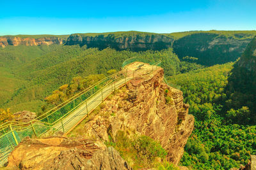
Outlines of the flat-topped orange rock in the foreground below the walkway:
M 25 139 L 8 157 L 7 169 L 131 169 L 112 147 L 88 139 Z

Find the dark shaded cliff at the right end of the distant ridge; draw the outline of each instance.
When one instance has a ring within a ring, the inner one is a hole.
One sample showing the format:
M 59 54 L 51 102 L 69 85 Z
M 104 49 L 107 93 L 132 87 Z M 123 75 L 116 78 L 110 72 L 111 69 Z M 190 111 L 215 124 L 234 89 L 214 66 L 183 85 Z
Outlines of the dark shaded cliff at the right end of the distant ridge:
M 198 63 L 212 66 L 235 61 L 244 52 L 252 40 L 251 34 L 221 34 L 197 33 L 184 36 L 173 43 L 173 51 L 180 59 L 191 56 L 198 58 Z

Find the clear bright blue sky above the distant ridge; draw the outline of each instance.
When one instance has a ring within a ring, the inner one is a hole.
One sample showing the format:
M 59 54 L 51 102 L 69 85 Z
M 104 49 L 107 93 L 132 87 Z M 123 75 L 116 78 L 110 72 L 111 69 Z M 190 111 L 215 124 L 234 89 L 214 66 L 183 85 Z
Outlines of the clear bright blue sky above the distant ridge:
M 0 0 L 0 35 L 255 30 L 256 0 Z

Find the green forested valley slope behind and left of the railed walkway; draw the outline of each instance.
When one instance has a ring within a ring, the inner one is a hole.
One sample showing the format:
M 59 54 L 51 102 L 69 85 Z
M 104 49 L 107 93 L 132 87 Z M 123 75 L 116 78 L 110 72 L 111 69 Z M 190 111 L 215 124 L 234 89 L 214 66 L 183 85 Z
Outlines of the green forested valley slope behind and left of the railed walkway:
M 21 52 L 21 53 L 20 53 Z M 120 70 L 122 62 L 137 57 L 145 62 L 162 60 L 166 75 L 170 76 L 198 65 L 180 62 L 172 48 L 145 52 L 98 50 L 86 46 L 7 46 L 0 49 L 1 91 L 0 108 L 12 112 L 30 110 L 39 112 L 44 98 L 61 85 L 69 84 L 76 76 L 107 74 Z

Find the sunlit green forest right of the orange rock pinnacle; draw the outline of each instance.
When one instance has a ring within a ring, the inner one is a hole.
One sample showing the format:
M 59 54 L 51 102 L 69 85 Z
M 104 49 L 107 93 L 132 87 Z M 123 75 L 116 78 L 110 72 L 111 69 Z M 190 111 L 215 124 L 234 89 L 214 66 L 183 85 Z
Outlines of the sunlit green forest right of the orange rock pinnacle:
M 256 126 L 227 122 L 223 112 L 225 87 L 232 63 L 178 74 L 168 80 L 181 86 L 189 113 L 195 116 L 195 129 L 185 147 L 180 164 L 193 169 L 230 169 L 246 164 L 256 153 Z M 239 114 L 246 114 L 243 107 Z

